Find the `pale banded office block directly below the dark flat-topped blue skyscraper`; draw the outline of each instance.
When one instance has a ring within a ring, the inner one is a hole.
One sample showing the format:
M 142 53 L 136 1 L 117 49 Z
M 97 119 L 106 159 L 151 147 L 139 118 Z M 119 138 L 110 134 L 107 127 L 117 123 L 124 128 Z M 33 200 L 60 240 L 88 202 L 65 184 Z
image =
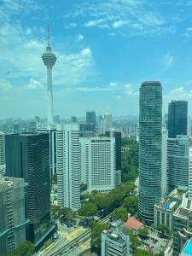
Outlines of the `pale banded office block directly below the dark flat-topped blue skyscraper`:
M 189 184 L 189 137 L 167 140 L 167 192 Z

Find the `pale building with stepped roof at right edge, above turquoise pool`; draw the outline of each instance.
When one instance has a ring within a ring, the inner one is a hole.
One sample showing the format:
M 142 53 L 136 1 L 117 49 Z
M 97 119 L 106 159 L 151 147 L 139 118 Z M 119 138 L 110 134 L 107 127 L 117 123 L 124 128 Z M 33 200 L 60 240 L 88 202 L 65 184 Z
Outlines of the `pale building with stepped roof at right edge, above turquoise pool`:
M 192 201 L 183 195 L 182 204 L 173 213 L 173 256 L 181 253 L 184 244 L 192 237 Z

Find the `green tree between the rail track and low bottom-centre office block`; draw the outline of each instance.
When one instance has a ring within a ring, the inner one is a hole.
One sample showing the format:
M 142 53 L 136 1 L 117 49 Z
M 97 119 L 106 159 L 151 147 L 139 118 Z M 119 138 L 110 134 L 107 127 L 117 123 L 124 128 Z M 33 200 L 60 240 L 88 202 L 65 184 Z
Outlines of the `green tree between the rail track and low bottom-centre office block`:
M 98 224 L 95 221 L 91 224 L 91 250 L 99 255 L 101 254 L 101 234 L 103 230 L 108 230 L 108 228 L 108 224 Z

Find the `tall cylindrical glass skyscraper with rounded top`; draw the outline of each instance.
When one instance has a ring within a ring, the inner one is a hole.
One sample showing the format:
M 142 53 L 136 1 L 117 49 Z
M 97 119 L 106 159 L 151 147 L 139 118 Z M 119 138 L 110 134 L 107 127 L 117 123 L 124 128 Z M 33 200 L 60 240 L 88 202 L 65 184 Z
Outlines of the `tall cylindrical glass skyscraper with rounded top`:
M 162 87 L 144 82 L 139 99 L 139 218 L 152 224 L 161 198 Z

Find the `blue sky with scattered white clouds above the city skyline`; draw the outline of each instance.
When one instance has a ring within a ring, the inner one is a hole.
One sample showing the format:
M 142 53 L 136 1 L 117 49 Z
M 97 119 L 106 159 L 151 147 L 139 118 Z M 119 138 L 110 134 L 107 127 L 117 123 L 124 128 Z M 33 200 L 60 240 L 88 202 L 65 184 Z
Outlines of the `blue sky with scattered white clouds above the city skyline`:
M 192 1 L 0 0 L 0 119 L 46 116 L 49 20 L 55 114 L 138 114 L 144 80 L 163 86 L 163 110 L 192 115 Z

